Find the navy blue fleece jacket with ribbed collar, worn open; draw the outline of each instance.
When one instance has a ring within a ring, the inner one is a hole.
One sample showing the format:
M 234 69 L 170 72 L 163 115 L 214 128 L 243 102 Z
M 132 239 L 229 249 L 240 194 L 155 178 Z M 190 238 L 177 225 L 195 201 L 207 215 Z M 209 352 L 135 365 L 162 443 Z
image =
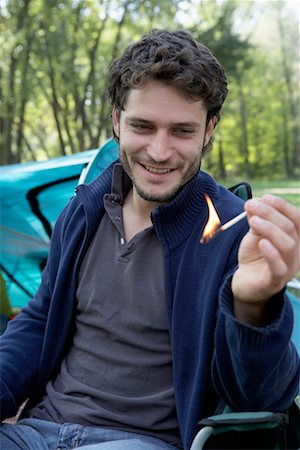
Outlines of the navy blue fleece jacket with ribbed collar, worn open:
M 80 262 L 104 214 L 112 167 L 77 188 L 56 222 L 35 298 L 1 338 L 2 419 L 28 397 L 28 408 L 38 402 L 72 342 Z M 290 341 L 292 308 L 285 296 L 272 299 L 266 327 L 245 325 L 233 315 L 230 280 L 247 221 L 200 245 L 208 218 L 205 192 L 221 222 L 243 210 L 240 199 L 199 172 L 171 203 L 152 212 L 164 253 L 175 401 L 185 449 L 197 422 L 221 400 L 236 410 L 284 410 L 299 381 L 299 358 Z

